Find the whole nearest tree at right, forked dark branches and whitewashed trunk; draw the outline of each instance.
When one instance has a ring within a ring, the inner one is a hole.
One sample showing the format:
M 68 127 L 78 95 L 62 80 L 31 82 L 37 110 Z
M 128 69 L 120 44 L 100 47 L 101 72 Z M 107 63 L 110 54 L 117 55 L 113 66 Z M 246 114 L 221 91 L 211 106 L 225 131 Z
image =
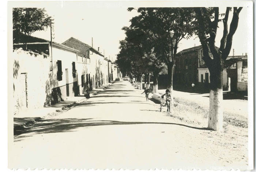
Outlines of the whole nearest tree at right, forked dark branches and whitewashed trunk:
M 203 60 L 210 71 L 210 109 L 208 128 L 215 131 L 222 131 L 223 127 L 223 107 L 222 107 L 222 84 L 223 84 L 223 65 L 230 53 L 233 35 L 238 26 L 239 13 L 242 7 L 233 7 L 233 17 L 229 31 L 227 20 L 229 18 L 230 7 L 226 8 L 225 14 L 219 13 L 219 8 L 194 8 L 196 13 L 197 30 L 200 42 L 203 47 Z M 219 16 L 223 16 L 219 19 Z M 219 21 L 223 22 L 223 36 L 220 40 L 219 48 L 215 46 L 215 38 Z M 213 58 L 209 56 L 209 50 Z

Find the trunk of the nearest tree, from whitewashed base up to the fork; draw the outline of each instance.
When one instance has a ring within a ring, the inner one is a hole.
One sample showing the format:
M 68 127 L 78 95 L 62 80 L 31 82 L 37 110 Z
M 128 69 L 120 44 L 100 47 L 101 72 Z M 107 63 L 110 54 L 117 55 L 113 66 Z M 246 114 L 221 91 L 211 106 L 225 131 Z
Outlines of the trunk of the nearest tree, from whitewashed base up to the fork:
M 210 71 L 210 108 L 209 108 L 209 119 L 208 128 L 215 131 L 222 131 L 223 129 L 223 64 L 222 62 L 214 63 L 209 68 Z

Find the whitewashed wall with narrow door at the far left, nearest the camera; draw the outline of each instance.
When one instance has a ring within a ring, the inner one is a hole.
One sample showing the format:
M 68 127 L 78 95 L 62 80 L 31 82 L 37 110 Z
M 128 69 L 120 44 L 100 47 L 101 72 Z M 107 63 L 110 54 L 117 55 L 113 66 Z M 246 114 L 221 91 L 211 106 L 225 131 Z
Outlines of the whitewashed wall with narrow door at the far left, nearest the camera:
M 18 113 L 21 109 L 20 105 L 26 104 L 26 100 L 22 98 L 24 96 L 22 89 L 26 87 L 25 81 L 21 80 L 25 75 L 22 73 L 27 73 L 27 107 L 44 107 L 46 95 L 50 91 L 50 57 L 44 58 L 43 55 L 18 49 L 12 53 L 11 64 L 13 65 L 13 78 L 10 79 L 13 81 L 13 88 L 10 89 L 13 92 L 13 100 L 9 102 L 14 103 L 14 112 Z

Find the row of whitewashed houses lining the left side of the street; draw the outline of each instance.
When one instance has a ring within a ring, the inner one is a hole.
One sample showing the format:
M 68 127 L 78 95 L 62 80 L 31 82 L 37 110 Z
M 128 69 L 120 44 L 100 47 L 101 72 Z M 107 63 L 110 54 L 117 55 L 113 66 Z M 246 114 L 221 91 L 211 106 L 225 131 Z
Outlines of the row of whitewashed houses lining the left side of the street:
M 118 66 L 99 48 L 73 37 L 59 44 L 31 36 L 26 45 L 14 41 L 13 48 L 15 114 L 84 96 L 121 77 Z

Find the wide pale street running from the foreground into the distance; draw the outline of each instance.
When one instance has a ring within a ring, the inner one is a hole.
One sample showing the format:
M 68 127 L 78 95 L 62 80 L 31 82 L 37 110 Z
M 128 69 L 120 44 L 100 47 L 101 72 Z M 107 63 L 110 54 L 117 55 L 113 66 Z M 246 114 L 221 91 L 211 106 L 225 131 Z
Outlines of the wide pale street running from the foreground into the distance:
M 16 156 L 9 158 L 17 168 L 39 169 L 248 167 L 248 137 L 180 121 L 141 93 L 118 81 L 16 136 L 11 147 Z

